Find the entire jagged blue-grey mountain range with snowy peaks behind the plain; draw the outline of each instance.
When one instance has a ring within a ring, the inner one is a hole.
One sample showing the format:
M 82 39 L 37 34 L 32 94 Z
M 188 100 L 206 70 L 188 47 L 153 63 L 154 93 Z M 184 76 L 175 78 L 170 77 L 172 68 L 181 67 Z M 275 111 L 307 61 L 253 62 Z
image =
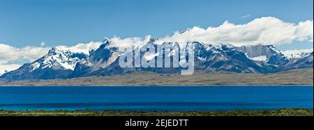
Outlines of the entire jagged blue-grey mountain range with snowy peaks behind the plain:
M 43 57 L 26 63 L 17 70 L 6 72 L 1 80 L 19 81 L 24 79 L 70 79 L 84 76 L 107 76 L 132 72 L 156 72 L 179 74 L 181 67 L 120 67 L 118 48 L 108 39 L 98 49 L 75 51 L 66 47 L 54 47 Z M 169 42 L 167 44 L 177 44 Z M 234 47 L 230 44 L 209 44 L 204 42 L 186 42 L 193 44 L 195 54 L 194 68 L 202 72 L 236 73 L 274 73 L 285 70 L 313 67 L 313 51 L 289 56 L 276 49 L 274 45 L 253 45 Z M 154 39 L 144 45 L 160 46 Z M 140 54 L 139 56 L 144 56 Z M 146 56 L 146 55 L 145 55 Z M 145 57 L 144 58 L 147 58 Z M 156 56 L 147 60 L 156 60 Z M 171 56 L 171 55 L 169 55 Z

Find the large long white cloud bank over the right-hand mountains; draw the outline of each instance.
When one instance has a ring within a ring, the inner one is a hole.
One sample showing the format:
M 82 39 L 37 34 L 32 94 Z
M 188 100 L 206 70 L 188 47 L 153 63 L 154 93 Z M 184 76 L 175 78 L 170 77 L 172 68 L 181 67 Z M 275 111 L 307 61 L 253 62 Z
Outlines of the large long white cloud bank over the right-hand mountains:
M 234 46 L 253 44 L 290 44 L 294 40 L 313 42 L 313 20 L 293 24 L 276 17 L 261 17 L 247 24 L 224 22 L 218 27 L 202 29 L 193 27 L 172 36 L 160 38 L 158 42 L 207 42 L 228 43 Z

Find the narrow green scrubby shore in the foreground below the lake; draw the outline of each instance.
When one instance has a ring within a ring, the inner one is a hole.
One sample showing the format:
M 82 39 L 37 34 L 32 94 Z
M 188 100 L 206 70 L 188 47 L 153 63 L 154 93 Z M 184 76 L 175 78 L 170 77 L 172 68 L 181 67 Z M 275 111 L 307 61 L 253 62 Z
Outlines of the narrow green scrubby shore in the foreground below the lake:
M 0 116 L 313 116 L 313 108 L 268 111 L 137 112 L 137 111 L 0 111 Z

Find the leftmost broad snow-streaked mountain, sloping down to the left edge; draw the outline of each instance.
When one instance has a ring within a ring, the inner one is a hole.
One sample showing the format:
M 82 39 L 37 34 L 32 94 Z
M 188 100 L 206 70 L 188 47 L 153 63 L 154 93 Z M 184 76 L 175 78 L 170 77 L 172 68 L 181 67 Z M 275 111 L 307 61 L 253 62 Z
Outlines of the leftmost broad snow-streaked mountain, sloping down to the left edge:
M 42 58 L 7 72 L 1 78 L 8 80 L 68 78 L 75 65 L 88 55 L 89 52 L 85 50 L 64 46 L 54 47 Z

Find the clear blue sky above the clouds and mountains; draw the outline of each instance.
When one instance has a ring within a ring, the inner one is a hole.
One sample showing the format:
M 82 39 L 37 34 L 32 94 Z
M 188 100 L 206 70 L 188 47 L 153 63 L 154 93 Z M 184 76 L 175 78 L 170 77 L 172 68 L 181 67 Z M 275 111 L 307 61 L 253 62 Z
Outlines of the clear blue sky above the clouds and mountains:
M 45 41 L 54 47 L 114 35 L 160 38 L 193 26 L 219 26 L 225 20 L 245 24 L 267 16 L 296 24 L 313 20 L 313 0 L 0 0 L 0 43 L 25 47 Z

